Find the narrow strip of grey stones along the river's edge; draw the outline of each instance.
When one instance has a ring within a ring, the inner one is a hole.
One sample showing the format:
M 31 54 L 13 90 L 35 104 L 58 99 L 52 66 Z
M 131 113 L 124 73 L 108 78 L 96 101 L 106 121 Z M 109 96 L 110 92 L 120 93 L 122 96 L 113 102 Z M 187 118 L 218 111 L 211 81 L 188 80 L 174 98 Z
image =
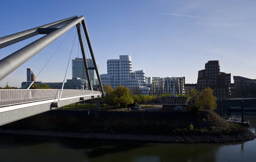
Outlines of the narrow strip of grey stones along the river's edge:
M 9 130 L 0 129 L 0 134 L 12 135 L 32 135 L 43 137 L 61 138 L 84 138 L 100 140 L 121 140 L 140 142 L 160 142 L 160 143 L 227 143 L 253 140 L 255 137 L 250 133 L 233 134 L 211 134 L 211 135 L 150 135 L 150 134 L 106 134 L 106 133 L 72 133 L 60 131 L 33 131 L 33 130 Z

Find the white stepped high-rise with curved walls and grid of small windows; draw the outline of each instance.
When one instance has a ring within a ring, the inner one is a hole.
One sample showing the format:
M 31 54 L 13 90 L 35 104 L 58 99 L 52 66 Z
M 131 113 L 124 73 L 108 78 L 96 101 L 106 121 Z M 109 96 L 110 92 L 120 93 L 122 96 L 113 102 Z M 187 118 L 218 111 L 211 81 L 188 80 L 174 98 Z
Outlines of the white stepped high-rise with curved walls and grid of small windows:
M 120 55 L 119 59 L 107 60 L 107 72 L 107 74 L 100 75 L 103 86 L 109 84 L 116 88 L 121 85 L 131 91 L 133 87 L 145 86 L 145 71 L 133 71 L 131 56 L 129 55 Z M 144 89 L 145 87 L 143 87 Z

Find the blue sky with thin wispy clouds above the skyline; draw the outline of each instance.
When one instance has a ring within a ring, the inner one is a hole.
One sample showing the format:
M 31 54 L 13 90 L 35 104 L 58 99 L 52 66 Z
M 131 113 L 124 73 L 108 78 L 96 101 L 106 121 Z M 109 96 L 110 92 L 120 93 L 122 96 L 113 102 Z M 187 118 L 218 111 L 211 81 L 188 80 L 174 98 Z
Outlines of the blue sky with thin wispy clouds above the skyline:
M 146 76 L 185 76 L 220 60 L 221 71 L 256 78 L 255 0 L 10 0 L 0 5 L 0 37 L 74 15 L 84 15 L 100 72 L 107 59 L 131 55 L 133 70 Z M 37 81 L 61 82 L 76 31 L 73 30 Z M 0 81 L 20 87 L 26 68 L 37 75 L 67 33 Z M 35 36 L 0 49 L 0 59 L 28 45 Z M 79 54 L 80 55 L 80 54 Z M 71 58 L 78 56 L 78 39 Z M 66 79 L 72 77 L 71 61 Z

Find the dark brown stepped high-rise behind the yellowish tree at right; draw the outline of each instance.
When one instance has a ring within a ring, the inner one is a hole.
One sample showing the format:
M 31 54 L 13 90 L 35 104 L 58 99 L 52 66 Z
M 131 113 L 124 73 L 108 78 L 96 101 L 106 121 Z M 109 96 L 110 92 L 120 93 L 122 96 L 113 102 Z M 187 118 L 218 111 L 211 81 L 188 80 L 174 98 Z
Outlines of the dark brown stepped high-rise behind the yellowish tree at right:
M 213 89 L 213 95 L 218 99 L 230 98 L 229 85 L 231 74 L 220 71 L 220 61 L 208 61 L 205 69 L 198 71 L 197 89 L 202 91 L 207 87 Z

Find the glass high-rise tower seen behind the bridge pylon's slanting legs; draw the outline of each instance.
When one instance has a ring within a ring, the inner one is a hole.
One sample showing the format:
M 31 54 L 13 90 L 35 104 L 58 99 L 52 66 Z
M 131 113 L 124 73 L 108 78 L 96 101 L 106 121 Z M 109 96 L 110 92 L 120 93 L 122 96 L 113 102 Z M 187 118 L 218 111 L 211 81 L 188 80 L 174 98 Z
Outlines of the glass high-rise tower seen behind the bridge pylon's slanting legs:
M 92 59 L 87 59 L 87 64 L 88 64 L 88 67 L 94 67 Z M 97 64 L 98 71 L 100 73 L 99 64 L 97 62 L 96 64 Z M 99 81 L 96 75 L 96 71 L 89 70 L 89 75 L 90 75 L 92 86 L 98 85 Z M 86 71 L 85 71 L 84 61 L 82 58 L 75 58 L 72 60 L 72 78 L 81 78 L 84 80 L 88 80 Z

